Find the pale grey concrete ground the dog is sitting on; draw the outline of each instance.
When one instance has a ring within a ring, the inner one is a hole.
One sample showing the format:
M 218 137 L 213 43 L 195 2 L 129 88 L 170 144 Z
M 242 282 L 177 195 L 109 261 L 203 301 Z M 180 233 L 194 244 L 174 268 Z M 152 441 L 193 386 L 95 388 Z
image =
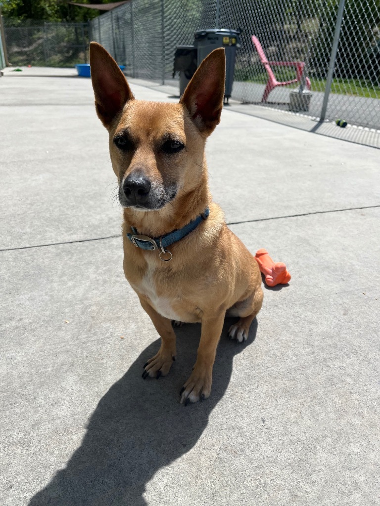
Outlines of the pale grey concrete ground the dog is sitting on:
M 91 83 L 42 74 L 0 79 L 1 504 L 377 505 L 378 150 L 223 110 L 214 199 L 292 279 L 245 345 L 226 321 L 211 397 L 184 407 L 200 326 L 141 379 L 159 339 L 123 277 Z

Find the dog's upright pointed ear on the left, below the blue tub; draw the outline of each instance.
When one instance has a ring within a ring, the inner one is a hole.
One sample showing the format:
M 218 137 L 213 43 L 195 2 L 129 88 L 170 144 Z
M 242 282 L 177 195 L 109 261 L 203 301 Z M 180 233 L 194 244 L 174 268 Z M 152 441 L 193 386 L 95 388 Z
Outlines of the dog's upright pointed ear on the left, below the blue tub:
M 124 104 L 134 96 L 116 61 L 96 42 L 90 44 L 90 67 L 96 112 L 108 128 Z

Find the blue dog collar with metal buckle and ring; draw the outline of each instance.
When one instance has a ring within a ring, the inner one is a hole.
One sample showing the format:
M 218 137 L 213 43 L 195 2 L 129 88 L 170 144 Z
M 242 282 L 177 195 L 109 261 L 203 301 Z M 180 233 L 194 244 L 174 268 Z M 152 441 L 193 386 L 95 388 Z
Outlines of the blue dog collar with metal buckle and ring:
M 167 246 L 170 246 L 170 244 L 173 244 L 174 242 L 179 241 L 180 239 L 183 239 L 187 234 L 190 232 L 193 232 L 198 225 L 202 222 L 202 220 L 206 220 L 208 215 L 210 214 L 210 209 L 207 207 L 204 212 L 198 216 L 195 220 L 191 221 L 184 227 L 174 230 L 173 232 L 170 232 L 169 234 L 163 235 L 162 237 L 148 237 L 147 235 L 141 235 L 138 234 L 137 230 L 134 227 L 132 228 L 132 234 L 128 233 L 127 237 L 128 239 L 134 244 L 137 248 L 145 249 L 148 251 L 153 251 L 154 249 L 160 249 L 160 258 L 164 262 L 169 262 L 173 256 L 170 251 L 166 250 L 165 248 Z M 170 258 L 165 260 L 162 258 L 162 255 L 169 254 Z

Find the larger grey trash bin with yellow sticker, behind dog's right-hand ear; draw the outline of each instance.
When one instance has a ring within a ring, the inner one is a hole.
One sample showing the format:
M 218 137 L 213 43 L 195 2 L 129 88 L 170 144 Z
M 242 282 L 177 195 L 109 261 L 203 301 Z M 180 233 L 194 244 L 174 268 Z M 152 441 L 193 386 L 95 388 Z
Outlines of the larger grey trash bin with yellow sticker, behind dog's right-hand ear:
M 240 48 L 241 30 L 212 28 L 195 32 L 194 46 L 197 48 L 197 66 L 216 48 L 225 50 L 225 91 L 224 98 L 231 97 L 234 83 L 236 48 Z

